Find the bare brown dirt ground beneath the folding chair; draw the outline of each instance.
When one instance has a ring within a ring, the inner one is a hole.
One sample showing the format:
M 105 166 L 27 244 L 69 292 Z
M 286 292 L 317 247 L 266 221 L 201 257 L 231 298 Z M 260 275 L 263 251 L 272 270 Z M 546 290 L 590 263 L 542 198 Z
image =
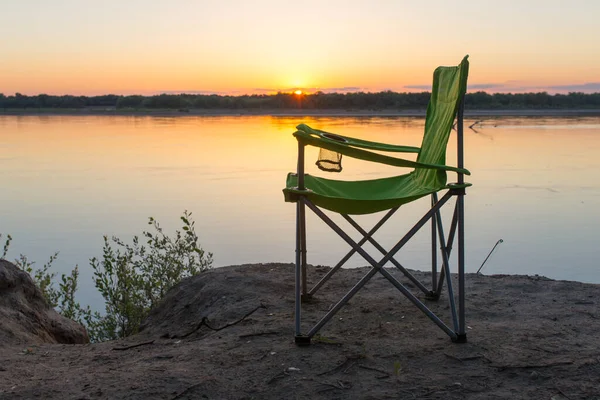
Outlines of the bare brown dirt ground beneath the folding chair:
M 337 274 L 303 328 L 366 271 Z M 298 347 L 293 293 L 290 264 L 209 271 L 126 340 L 0 347 L 0 399 L 600 399 L 600 285 L 469 274 L 465 344 L 377 274 Z M 449 320 L 445 295 L 427 304 Z

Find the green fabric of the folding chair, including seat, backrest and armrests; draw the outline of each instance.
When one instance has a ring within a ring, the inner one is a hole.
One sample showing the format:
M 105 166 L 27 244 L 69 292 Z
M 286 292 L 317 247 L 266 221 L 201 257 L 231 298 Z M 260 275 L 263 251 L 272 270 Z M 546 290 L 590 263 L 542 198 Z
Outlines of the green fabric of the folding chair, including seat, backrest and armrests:
M 468 57 L 468 56 L 467 56 Z M 431 99 L 427 107 L 425 134 L 420 148 L 369 142 L 330 134 L 298 125 L 294 136 L 301 144 L 335 151 L 365 161 L 414 168 L 408 174 L 364 181 L 339 181 L 305 174 L 305 187 L 297 189 L 296 174 L 288 174 L 285 200 L 306 196 L 317 206 L 343 214 L 370 214 L 409 203 L 420 197 L 449 188 L 446 171 L 470 175 L 464 168 L 449 167 L 446 146 L 458 107 L 466 92 L 469 62 L 465 57 L 456 67 L 438 67 L 433 73 Z M 368 150 L 418 153 L 416 161 Z M 470 184 L 452 185 L 453 188 Z

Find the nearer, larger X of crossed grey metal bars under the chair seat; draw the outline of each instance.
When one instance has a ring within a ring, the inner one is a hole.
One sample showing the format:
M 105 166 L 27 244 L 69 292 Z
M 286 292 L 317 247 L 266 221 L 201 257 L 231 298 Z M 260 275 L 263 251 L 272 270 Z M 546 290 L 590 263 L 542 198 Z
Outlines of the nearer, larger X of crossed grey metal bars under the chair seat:
M 377 273 L 381 273 L 386 279 L 388 279 L 405 297 L 407 297 L 417 308 L 419 308 L 425 315 L 427 315 L 436 325 L 438 325 L 448 336 L 450 336 L 453 340 L 457 339 L 457 334 L 455 331 L 450 329 L 444 322 L 435 315 L 423 302 L 421 302 L 410 290 L 408 290 L 402 283 L 400 283 L 394 276 L 392 276 L 388 271 L 386 271 L 383 266 L 393 258 L 393 256 L 418 232 L 418 230 L 436 213 L 439 213 L 439 209 L 448 201 L 450 197 L 452 197 L 452 193 L 446 193 L 442 199 L 436 202 L 434 207 L 429 210 L 416 224 L 412 229 L 407 232 L 407 234 L 388 252 L 384 255 L 384 257 L 379 261 L 375 261 L 358 243 L 356 243 L 346 232 L 344 232 L 335 222 L 331 220 L 322 210 L 320 210 L 317 206 L 312 204 L 310 200 L 306 198 L 300 198 L 299 202 L 306 204 L 319 218 L 323 220 L 329 227 L 336 232 L 346 243 L 348 243 L 356 252 L 358 252 L 371 266 L 373 267 L 361 280 L 354 286 L 352 289 L 346 293 L 340 301 L 338 301 L 335 306 L 325 314 L 321 318 L 319 322 L 309 331 L 307 336 L 310 338 L 316 332 L 321 329 L 321 327 L 326 324 L 332 317 L 335 315 L 341 307 L 343 307 L 350 299 Z M 441 223 L 441 220 L 438 221 L 438 224 Z M 364 239 L 364 238 L 363 238 Z M 443 237 L 441 237 L 443 241 Z M 445 241 L 443 241 L 445 242 Z M 445 263 L 448 267 L 448 263 Z M 449 267 L 448 267 L 449 268 Z M 449 269 L 447 273 L 449 274 Z M 298 286 L 298 283 L 297 283 Z M 454 303 L 452 303 L 454 305 Z M 454 310 L 456 312 L 456 310 Z M 299 312 L 296 315 L 296 318 L 299 318 Z M 298 323 L 297 323 L 298 326 Z M 455 326 L 455 330 L 458 328 Z

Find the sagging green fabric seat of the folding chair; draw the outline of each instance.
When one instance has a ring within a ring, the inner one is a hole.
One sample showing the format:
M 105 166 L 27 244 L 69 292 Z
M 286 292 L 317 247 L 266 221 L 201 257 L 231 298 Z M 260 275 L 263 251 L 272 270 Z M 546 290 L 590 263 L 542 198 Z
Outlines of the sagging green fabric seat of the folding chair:
M 298 190 L 298 177 L 287 176 L 283 190 L 285 200 L 296 201 L 297 195 L 306 196 L 313 204 L 340 214 L 371 214 L 388 210 L 447 188 L 426 187 L 414 179 L 414 172 L 388 178 L 340 181 L 304 175 L 307 191 Z

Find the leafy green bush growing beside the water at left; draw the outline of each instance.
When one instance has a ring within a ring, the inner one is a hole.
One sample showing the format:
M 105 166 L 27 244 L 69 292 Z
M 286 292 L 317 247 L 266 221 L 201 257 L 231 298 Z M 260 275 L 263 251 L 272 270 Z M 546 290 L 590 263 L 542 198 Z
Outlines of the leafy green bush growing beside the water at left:
M 181 216 L 182 230 L 167 236 L 158 221 L 150 217 L 151 232 L 134 236 L 127 244 L 117 237 L 104 237 L 101 259 L 90 259 L 94 284 L 105 301 L 105 313 L 92 312 L 75 301 L 79 269 L 62 275 L 58 289 L 54 287 L 56 273 L 51 272 L 58 253 L 40 269 L 20 255 L 17 266 L 28 272 L 40 287 L 48 302 L 67 318 L 82 323 L 93 342 L 113 340 L 139 331 L 148 312 L 174 285 L 183 278 L 197 275 L 212 267 L 212 254 L 198 244 L 192 213 Z M 2 235 L 0 234 L 0 238 Z M 8 252 L 12 238 L 7 236 L 2 257 Z

